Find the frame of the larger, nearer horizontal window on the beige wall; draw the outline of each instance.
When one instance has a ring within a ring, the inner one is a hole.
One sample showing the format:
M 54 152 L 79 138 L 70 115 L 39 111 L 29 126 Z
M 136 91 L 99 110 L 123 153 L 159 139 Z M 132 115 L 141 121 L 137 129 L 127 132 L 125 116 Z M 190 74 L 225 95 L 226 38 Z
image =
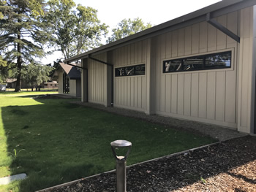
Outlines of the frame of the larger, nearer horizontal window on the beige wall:
M 207 68 L 206 67 L 206 58 L 211 56 L 211 55 L 220 55 L 220 54 L 228 54 L 230 53 L 230 66 L 223 66 L 223 67 L 216 67 L 216 68 Z M 215 51 L 215 52 L 211 52 L 211 53 L 205 53 L 205 54 L 197 54 L 197 55 L 191 55 L 191 56 L 187 56 L 187 57 L 179 57 L 179 58 L 170 58 L 170 59 L 165 59 L 162 60 L 162 74 L 170 74 L 170 73 L 176 73 L 176 72 L 198 72 L 198 71 L 206 71 L 206 70 L 219 70 L 219 69 L 233 69 L 233 55 L 234 55 L 234 51 L 233 49 L 229 49 L 229 50 L 219 50 L 219 51 Z M 192 70 L 184 70 L 184 61 L 189 59 L 189 58 L 203 58 L 203 65 L 201 69 L 192 69 Z M 179 71 L 174 71 L 174 72 L 165 72 L 165 63 L 168 61 L 181 61 L 181 70 Z

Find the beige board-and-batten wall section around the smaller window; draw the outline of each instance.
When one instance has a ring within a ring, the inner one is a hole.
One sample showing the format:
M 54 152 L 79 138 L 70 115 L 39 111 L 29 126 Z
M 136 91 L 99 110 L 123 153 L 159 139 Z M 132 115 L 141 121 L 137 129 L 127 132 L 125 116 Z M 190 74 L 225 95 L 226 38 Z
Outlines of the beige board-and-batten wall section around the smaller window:
M 146 41 L 120 47 L 112 52 L 114 68 L 146 63 Z M 114 77 L 114 106 L 145 110 L 145 75 Z

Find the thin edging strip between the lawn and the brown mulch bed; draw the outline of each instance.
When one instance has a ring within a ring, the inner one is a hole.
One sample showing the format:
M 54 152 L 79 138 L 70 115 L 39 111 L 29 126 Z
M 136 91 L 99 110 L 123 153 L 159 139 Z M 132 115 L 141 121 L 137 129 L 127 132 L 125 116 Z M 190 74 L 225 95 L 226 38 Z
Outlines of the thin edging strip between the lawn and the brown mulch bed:
M 230 140 L 230 139 L 228 139 L 228 140 Z M 143 162 L 140 162 L 138 164 L 132 164 L 130 166 L 127 166 L 127 169 L 129 169 L 132 166 L 137 166 L 139 164 L 145 164 L 145 163 L 148 163 L 148 162 L 151 162 L 151 161 L 158 161 L 161 158 L 170 158 L 170 157 L 173 157 L 173 156 L 189 153 L 189 152 L 192 152 L 194 150 L 200 150 L 200 149 L 203 149 L 203 148 L 206 148 L 206 147 L 211 147 L 211 146 L 214 146 L 214 145 L 218 145 L 220 143 L 222 143 L 222 142 L 214 142 L 214 143 L 211 143 L 211 144 L 208 144 L 208 145 L 203 145 L 203 146 L 200 146 L 200 147 L 195 147 L 195 148 L 192 148 L 192 149 L 189 149 L 189 150 L 184 150 L 184 151 L 181 151 L 181 152 L 178 152 L 178 153 L 173 153 L 173 154 L 170 154 L 170 155 L 165 155 L 165 156 L 162 156 L 162 157 L 159 157 L 159 158 L 153 158 L 153 159 L 148 160 L 148 161 L 143 161 Z M 109 172 L 103 172 L 103 173 L 100 173 L 100 174 L 94 174 L 94 175 L 91 175 L 89 177 L 85 177 L 85 178 L 82 178 L 82 179 L 79 179 L 79 180 L 73 180 L 73 181 L 70 181 L 68 183 L 63 183 L 63 184 L 60 184 L 60 185 L 56 185 L 56 186 L 53 186 L 53 187 L 50 187 L 50 188 L 45 188 L 45 189 L 42 189 L 42 190 L 39 190 L 39 191 L 35 191 L 35 192 L 49 192 L 49 191 L 53 191 L 53 190 L 61 188 L 61 187 L 65 187 L 65 186 L 72 185 L 74 183 L 78 183 L 78 182 L 80 182 L 82 180 L 88 180 L 91 177 L 97 177 L 97 176 L 99 176 L 101 174 L 108 174 L 108 173 L 111 173 L 111 172 L 116 172 L 116 169 L 113 169 L 113 170 L 111 170 Z

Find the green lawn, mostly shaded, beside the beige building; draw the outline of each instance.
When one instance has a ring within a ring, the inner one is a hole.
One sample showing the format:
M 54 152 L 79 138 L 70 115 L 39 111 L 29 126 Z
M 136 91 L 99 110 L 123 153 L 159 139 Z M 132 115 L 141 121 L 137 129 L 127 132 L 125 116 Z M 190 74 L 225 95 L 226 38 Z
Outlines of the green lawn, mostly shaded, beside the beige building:
M 36 94 L 43 92 L 0 93 L 0 177 L 29 176 L 0 191 L 36 191 L 114 169 L 116 139 L 132 142 L 128 165 L 215 142 Z

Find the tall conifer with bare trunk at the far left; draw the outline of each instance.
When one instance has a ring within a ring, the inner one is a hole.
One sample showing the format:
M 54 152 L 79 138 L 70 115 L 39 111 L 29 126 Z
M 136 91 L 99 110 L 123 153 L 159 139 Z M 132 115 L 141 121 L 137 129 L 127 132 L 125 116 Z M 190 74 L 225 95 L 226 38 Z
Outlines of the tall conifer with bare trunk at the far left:
M 15 91 L 20 91 L 23 67 L 46 54 L 43 45 L 50 36 L 40 22 L 44 7 L 44 0 L 0 0 L 0 55 L 17 71 Z

